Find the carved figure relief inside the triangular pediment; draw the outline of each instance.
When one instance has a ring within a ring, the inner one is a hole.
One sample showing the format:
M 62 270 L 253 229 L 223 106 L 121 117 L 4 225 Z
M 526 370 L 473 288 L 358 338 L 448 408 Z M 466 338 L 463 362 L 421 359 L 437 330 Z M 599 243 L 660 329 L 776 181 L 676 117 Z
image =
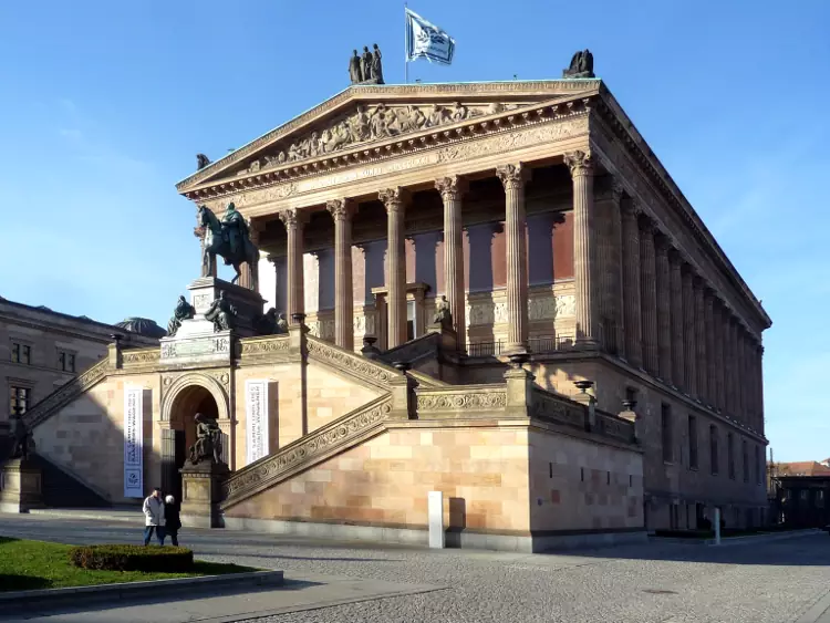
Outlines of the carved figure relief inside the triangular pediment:
M 515 110 L 525 104 L 359 104 L 355 112 L 342 116 L 321 131 L 312 131 L 300 138 L 286 139 L 270 153 L 237 172 L 237 175 L 258 173 L 273 167 L 336 153 L 346 147 L 382 141 L 394 136 L 440 127 L 473 117 Z

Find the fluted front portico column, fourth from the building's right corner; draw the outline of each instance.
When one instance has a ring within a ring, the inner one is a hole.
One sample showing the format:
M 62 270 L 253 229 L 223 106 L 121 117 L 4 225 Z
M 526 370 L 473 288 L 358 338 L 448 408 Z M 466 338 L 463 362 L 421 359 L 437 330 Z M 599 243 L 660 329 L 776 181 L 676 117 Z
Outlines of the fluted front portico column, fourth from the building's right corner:
M 388 272 L 388 347 L 406 342 L 406 248 L 404 239 L 404 195 L 400 186 L 377 194 L 386 206 Z

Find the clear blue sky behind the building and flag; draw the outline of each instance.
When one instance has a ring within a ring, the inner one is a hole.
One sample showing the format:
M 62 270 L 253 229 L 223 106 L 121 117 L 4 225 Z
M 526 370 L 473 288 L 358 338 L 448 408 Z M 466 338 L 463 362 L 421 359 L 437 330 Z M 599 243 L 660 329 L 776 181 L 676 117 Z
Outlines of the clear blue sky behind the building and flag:
M 413 0 L 457 41 L 424 82 L 559 77 L 585 46 L 772 318 L 778 460 L 830 456 L 826 188 L 830 4 Z M 0 295 L 164 324 L 199 270 L 174 184 L 347 85 L 378 43 L 403 82 L 400 2 L 0 4 Z

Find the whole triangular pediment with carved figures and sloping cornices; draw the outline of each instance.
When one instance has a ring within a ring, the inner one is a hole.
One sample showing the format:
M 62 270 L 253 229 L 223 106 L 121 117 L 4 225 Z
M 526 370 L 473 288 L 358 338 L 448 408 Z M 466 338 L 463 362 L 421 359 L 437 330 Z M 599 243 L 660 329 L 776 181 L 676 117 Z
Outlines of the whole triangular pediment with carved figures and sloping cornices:
M 541 81 L 350 87 L 177 185 L 187 194 L 218 183 L 305 166 L 382 142 L 445 131 L 540 102 L 595 94 L 600 81 Z

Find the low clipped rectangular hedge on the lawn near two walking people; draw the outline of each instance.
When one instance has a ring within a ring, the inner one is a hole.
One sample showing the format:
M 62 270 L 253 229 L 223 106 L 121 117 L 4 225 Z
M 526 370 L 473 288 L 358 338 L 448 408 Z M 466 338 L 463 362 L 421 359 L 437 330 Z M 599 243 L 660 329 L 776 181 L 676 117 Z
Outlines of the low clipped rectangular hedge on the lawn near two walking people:
M 81 546 L 72 548 L 69 555 L 81 569 L 184 573 L 194 568 L 193 551 L 186 548 Z

